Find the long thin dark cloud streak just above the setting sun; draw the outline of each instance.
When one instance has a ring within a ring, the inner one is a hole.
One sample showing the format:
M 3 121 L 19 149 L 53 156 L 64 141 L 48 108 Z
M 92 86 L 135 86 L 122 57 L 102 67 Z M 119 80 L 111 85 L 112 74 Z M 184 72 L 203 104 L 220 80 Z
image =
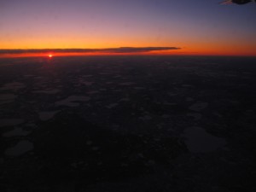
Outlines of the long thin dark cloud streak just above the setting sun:
M 145 53 L 157 50 L 180 49 L 177 47 L 119 47 L 106 49 L 0 49 L 0 54 L 24 53 Z

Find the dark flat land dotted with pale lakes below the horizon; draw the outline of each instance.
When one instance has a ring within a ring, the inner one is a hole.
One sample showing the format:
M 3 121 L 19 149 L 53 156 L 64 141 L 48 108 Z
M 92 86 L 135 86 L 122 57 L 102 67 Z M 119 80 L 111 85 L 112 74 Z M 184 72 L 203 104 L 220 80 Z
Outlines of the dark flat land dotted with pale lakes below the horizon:
M 0 59 L 2 192 L 253 192 L 256 58 Z

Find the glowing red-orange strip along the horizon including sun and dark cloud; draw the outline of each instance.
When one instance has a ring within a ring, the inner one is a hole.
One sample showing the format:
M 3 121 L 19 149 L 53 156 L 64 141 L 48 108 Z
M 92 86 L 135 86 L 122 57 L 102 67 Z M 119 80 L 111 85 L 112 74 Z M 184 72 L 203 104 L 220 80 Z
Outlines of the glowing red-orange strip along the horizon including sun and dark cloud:
M 0 58 L 4 57 L 45 57 L 45 56 L 90 56 L 90 55 L 197 55 L 197 56 L 241 56 L 255 57 L 252 54 L 224 53 L 216 51 L 186 51 L 179 47 L 132 47 L 116 48 L 32 48 L 32 49 L 0 49 Z

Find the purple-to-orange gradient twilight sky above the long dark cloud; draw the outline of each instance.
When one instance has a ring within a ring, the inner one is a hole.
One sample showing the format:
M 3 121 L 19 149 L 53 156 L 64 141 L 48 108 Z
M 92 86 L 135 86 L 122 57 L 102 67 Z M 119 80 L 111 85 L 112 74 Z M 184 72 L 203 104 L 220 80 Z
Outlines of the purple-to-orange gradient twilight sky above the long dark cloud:
M 256 3 L 220 2 L 0 0 L 0 49 L 175 47 L 160 52 L 256 55 Z

